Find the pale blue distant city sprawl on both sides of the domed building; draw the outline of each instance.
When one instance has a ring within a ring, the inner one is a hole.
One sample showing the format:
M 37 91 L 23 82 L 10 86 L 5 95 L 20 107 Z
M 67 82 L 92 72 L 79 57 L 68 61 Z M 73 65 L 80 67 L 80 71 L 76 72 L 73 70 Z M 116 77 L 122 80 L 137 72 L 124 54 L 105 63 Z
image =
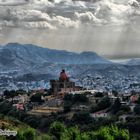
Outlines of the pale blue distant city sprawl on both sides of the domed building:
M 7 71 L 0 73 L 0 94 L 6 89 L 24 89 L 30 91 L 50 88 L 50 78 L 42 80 L 17 80 L 15 73 L 17 73 L 17 71 L 14 70 L 11 72 Z M 82 86 L 90 90 L 102 90 L 104 92 L 112 92 L 112 90 L 116 90 L 120 93 L 131 93 L 132 91 L 140 92 L 140 78 L 137 75 L 114 75 L 114 73 L 115 71 L 110 72 L 108 75 L 96 73 L 94 75 L 87 74 L 81 75 L 81 77 L 75 76 L 72 79 L 77 86 Z M 27 77 L 34 76 L 32 74 L 27 74 Z

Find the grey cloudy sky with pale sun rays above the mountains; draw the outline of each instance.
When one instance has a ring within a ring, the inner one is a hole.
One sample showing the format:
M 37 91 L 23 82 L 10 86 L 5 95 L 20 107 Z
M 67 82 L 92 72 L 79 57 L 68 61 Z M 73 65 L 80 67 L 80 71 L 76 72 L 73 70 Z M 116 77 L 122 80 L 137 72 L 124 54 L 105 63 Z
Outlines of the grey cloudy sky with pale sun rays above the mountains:
M 10 42 L 140 57 L 140 0 L 0 0 L 0 44 Z

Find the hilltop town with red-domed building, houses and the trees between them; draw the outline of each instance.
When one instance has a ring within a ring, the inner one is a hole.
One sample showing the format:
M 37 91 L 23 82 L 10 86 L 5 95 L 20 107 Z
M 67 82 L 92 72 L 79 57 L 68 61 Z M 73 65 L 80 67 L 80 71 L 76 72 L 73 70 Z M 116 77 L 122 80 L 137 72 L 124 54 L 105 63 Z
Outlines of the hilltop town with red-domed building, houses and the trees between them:
M 64 69 L 60 72 L 58 80 L 50 80 L 50 89 L 28 92 L 5 90 L 1 99 L 12 102 L 13 107 L 16 107 L 17 110 L 26 111 L 32 115 L 49 116 L 52 113 L 71 112 L 72 117 L 72 114 L 76 112 L 86 111 L 94 119 L 111 118 L 112 111 L 116 109 L 112 110 L 113 105 L 117 104 L 119 106 L 118 116 L 123 121 L 127 117 L 136 115 L 140 102 L 139 92 L 136 91 L 124 94 L 117 91 L 105 92 L 76 86 Z

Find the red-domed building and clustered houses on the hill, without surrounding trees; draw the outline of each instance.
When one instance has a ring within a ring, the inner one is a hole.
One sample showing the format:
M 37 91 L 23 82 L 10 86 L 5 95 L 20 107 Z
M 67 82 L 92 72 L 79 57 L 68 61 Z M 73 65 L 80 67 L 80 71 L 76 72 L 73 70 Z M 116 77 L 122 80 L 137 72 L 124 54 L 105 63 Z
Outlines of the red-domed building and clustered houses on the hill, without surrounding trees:
M 101 80 L 99 77 L 97 78 L 98 82 Z M 88 80 L 87 80 L 88 81 Z M 131 87 L 135 86 L 137 87 L 138 84 L 131 84 Z M 48 94 L 49 92 L 49 94 Z M 66 74 L 65 70 L 62 70 L 60 72 L 59 79 L 50 80 L 50 89 L 44 90 L 44 89 L 37 89 L 37 90 L 31 90 L 30 94 L 27 94 L 29 92 L 25 92 L 25 94 L 19 94 L 8 98 L 9 101 L 13 102 L 13 106 L 15 106 L 18 110 L 25 110 L 29 111 L 31 114 L 51 114 L 52 112 L 59 112 L 63 111 L 63 97 L 66 94 L 85 94 L 88 98 L 90 105 L 84 105 L 79 104 L 72 106 L 71 110 L 73 112 L 77 111 L 89 111 L 91 108 L 91 105 L 97 105 L 101 100 L 102 96 L 95 96 L 97 93 L 102 93 L 103 96 L 107 96 L 110 101 L 113 103 L 117 98 L 120 99 L 120 103 L 122 105 L 127 105 L 131 111 L 133 112 L 135 103 L 139 98 L 139 92 L 133 93 L 121 93 L 117 92 L 117 96 L 114 95 L 112 91 L 104 91 L 101 89 L 86 89 L 82 86 L 76 86 L 75 82 L 71 81 L 68 75 Z M 41 94 L 41 100 L 43 100 L 43 104 L 40 105 L 38 102 L 31 103 L 31 97 L 33 95 L 36 95 L 40 93 Z M 28 108 L 29 105 L 32 104 L 32 108 Z M 110 113 L 106 110 L 100 110 L 95 113 L 90 114 L 93 118 L 99 118 L 99 117 L 110 117 Z

